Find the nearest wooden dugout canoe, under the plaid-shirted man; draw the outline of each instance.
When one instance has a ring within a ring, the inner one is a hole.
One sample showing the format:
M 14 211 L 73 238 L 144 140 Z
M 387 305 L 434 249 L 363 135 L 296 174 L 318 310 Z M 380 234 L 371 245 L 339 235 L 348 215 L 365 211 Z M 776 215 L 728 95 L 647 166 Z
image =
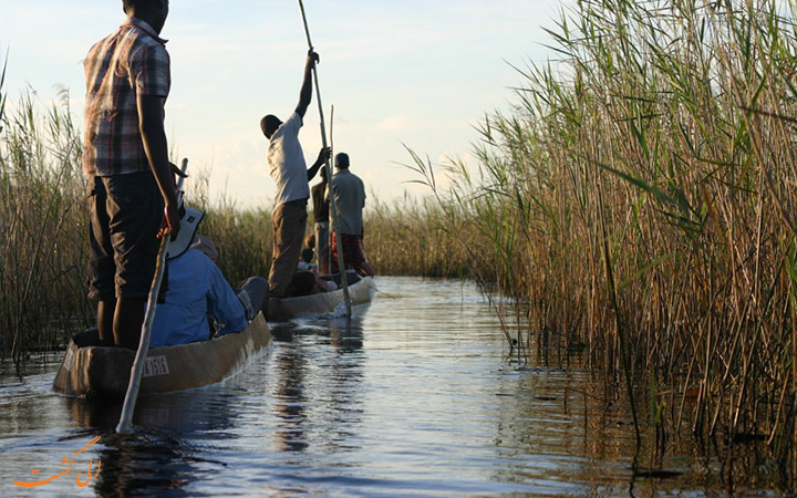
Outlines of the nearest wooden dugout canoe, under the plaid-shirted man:
M 135 351 L 99 346 L 96 329 L 75 334 L 66 347 L 53 390 L 84 397 L 124 397 Z M 241 332 L 209 341 L 154 347 L 147 352 L 141 394 L 215 384 L 244 367 L 271 342 L 262 313 Z

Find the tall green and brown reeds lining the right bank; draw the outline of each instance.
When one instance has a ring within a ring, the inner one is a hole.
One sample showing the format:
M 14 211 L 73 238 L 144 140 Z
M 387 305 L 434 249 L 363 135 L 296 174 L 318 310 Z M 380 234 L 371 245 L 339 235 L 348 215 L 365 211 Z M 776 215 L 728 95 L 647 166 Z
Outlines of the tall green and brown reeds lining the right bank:
M 586 349 L 607 400 L 662 432 L 665 412 L 687 418 L 729 455 L 763 439 L 793 489 L 797 25 L 783 9 L 577 1 L 550 30 L 558 61 L 518 68 L 515 108 L 483 122 L 477 170 L 452 162 L 442 190 L 427 159 L 411 167 L 452 234 L 480 235 L 459 240 L 468 264 L 528 305 L 526 359 L 544 336 L 562 362 Z

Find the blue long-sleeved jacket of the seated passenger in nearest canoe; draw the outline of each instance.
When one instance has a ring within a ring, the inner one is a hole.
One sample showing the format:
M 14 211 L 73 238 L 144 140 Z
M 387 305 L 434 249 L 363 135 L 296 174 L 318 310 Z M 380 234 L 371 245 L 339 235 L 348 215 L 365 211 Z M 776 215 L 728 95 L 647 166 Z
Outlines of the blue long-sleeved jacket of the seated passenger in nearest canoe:
M 208 314 L 220 325 L 220 334 L 247 326 L 244 307 L 221 270 L 201 251 L 188 249 L 168 262 L 166 302 L 155 309 L 149 347 L 209 339 Z

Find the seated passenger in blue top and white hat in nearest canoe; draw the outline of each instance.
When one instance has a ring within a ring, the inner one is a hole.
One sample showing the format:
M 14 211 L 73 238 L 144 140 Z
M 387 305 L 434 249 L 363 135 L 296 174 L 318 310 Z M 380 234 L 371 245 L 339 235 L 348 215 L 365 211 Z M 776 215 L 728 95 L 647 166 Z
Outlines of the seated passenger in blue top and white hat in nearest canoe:
M 155 309 L 149 347 L 240 332 L 268 303 L 266 279 L 251 277 L 235 291 L 214 262 L 217 256 L 213 241 L 197 236 L 188 250 L 169 260 L 166 302 Z M 208 315 L 216 323 L 213 333 Z

